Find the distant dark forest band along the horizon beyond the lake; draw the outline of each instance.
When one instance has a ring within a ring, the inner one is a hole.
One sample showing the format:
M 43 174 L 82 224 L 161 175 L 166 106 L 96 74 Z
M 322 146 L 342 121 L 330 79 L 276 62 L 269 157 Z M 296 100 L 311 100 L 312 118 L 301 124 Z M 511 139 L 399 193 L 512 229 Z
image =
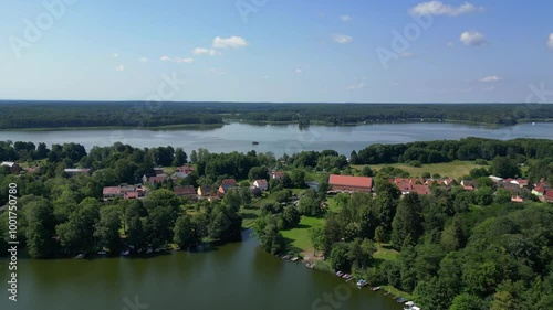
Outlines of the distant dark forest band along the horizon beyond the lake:
M 0 129 L 213 125 L 223 119 L 300 125 L 420 119 L 515 125 L 553 119 L 553 105 L 538 104 L 0 101 Z

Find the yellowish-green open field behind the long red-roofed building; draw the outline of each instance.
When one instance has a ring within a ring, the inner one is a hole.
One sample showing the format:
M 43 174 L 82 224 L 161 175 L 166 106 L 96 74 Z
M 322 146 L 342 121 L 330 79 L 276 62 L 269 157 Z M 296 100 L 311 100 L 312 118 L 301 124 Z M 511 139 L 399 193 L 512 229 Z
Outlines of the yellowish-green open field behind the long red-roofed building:
M 441 177 L 448 177 L 453 179 L 460 179 L 463 175 L 468 175 L 470 170 L 474 168 L 481 168 L 481 167 L 488 168 L 487 165 L 476 164 L 473 161 L 429 163 L 429 164 L 422 164 L 421 167 L 411 167 L 405 163 L 373 164 L 369 167 L 371 169 L 373 169 L 373 171 L 378 171 L 386 165 L 405 170 L 409 172 L 411 177 L 421 177 L 422 173 L 429 172 L 430 174 L 439 173 Z M 353 167 L 358 170 L 363 168 L 363 165 L 353 165 Z

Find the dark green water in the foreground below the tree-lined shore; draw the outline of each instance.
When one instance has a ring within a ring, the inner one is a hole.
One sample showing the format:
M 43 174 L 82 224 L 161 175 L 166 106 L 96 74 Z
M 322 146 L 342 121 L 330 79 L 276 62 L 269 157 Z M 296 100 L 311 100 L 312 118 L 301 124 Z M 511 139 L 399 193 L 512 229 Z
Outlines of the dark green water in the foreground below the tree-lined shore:
M 357 289 L 330 274 L 263 253 L 247 232 L 241 243 L 200 253 L 20 259 L 18 265 L 18 302 L 12 302 L 8 300 L 6 260 L 0 264 L 2 310 L 401 309 L 382 292 Z

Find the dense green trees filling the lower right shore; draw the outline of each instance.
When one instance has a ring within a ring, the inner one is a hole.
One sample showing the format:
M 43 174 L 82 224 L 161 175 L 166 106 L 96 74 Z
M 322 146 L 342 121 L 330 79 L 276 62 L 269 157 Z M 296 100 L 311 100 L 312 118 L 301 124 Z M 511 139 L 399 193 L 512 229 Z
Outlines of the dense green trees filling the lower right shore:
M 334 270 L 372 286 L 411 293 L 422 309 L 550 309 L 553 297 L 553 210 L 512 204 L 481 186 L 432 186 L 432 195 L 399 199 L 386 179 L 377 196 L 338 194 L 337 213 L 313 227 L 312 243 Z M 400 250 L 375 258 L 375 244 Z

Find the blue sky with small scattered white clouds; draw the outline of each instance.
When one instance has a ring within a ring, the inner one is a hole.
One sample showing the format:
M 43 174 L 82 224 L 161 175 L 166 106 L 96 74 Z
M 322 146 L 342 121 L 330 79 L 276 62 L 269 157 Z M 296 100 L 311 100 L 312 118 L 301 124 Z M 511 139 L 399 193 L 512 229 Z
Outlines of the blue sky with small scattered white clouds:
M 520 103 L 532 97 L 529 85 L 553 90 L 551 1 L 0 8 L 1 99 Z

